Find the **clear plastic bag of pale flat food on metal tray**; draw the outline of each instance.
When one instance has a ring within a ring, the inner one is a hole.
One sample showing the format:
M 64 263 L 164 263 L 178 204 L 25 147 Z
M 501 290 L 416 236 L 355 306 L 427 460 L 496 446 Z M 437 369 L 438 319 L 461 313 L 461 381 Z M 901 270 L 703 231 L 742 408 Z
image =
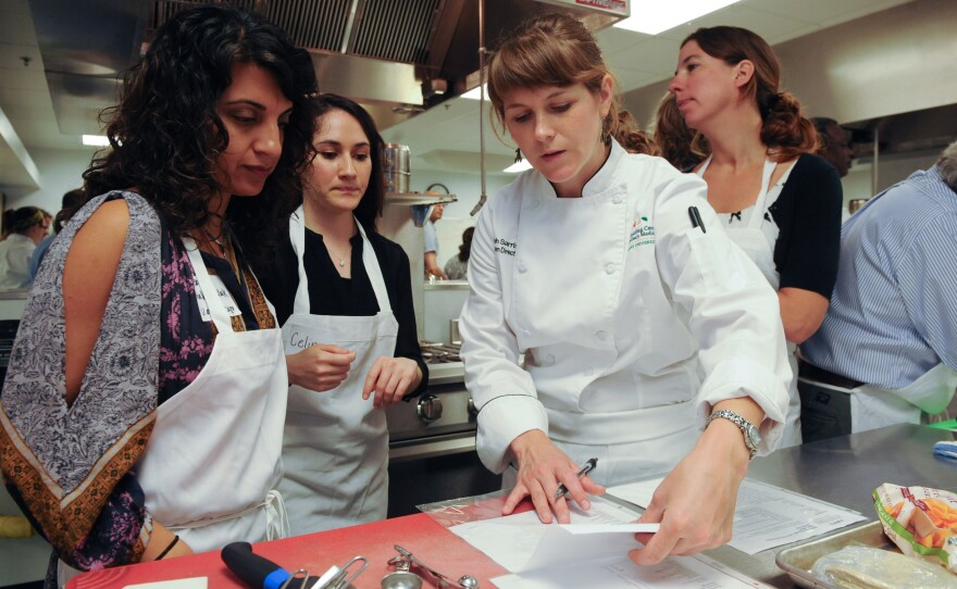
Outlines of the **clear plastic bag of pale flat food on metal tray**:
M 842 589 L 955 589 L 957 576 L 896 552 L 848 546 L 815 562 L 811 574 Z

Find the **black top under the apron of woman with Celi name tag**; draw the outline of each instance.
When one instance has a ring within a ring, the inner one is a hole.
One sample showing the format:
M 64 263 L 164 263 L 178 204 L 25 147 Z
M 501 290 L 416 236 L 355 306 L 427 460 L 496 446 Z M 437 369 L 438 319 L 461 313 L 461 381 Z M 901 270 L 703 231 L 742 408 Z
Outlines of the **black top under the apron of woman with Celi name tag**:
M 399 323 L 395 356 L 414 360 L 422 371 L 422 383 L 410 393 L 418 394 L 428 385 L 428 367 L 422 361 L 422 350 L 419 348 L 409 256 L 395 241 L 373 231 L 365 233 L 378 259 L 389 304 Z M 352 277 L 343 278 L 330 259 L 322 236 L 306 229 L 303 264 L 309 278 L 310 313 L 352 317 L 378 313 L 375 291 L 362 264 L 362 236 L 356 234 L 349 241 L 352 245 Z M 272 264 L 257 267 L 256 275 L 266 298 L 276 308 L 276 319 L 284 325 L 293 314 L 296 289 L 299 287 L 299 262 L 288 234 L 281 240 Z

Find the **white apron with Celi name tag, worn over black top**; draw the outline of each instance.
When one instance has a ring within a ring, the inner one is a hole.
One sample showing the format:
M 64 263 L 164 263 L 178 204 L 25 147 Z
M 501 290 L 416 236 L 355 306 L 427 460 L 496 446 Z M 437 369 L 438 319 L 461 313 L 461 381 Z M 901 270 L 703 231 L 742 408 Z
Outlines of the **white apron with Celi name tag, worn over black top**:
M 295 536 L 384 519 L 388 509 L 388 430 L 385 412 L 362 399 L 373 363 L 396 351 L 398 322 L 385 280 L 362 225 L 362 265 L 372 283 L 378 314 L 312 315 L 306 277 L 302 206 L 289 217 L 289 238 L 299 259 L 299 288 L 293 315 L 283 325 L 285 353 L 314 343 L 356 352 L 349 375 L 335 389 L 316 392 L 293 385 L 283 439 L 285 475 L 279 485 Z

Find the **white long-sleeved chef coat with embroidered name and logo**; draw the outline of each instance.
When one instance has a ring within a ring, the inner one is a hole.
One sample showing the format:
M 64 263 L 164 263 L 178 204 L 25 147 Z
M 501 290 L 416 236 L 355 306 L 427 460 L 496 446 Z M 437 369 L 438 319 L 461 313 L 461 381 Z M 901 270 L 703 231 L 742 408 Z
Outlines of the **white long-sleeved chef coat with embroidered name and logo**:
M 488 468 L 542 429 L 574 460 L 637 444 L 649 463 L 593 477 L 634 480 L 673 466 L 711 405 L 743 396 L 768 416 L 759 452 L 776 446 L 792 377 L 778 299 L 705 193 L 700 178 L 612 142 L 581 199 L 530 171 L 485 205 L 459 328 Z

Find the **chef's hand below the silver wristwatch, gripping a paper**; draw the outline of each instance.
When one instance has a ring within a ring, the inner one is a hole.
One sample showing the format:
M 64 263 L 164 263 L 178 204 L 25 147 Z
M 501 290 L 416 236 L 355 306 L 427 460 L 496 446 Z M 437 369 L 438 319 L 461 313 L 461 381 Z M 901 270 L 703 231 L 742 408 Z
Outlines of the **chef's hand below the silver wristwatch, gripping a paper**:
M 738 412 L 747 417 L 744 411 Z M 670 555 L 687 556 L 728 543 L 748 456 L 736 425 L 728 419 L 711 422 L 692 451 L 664 477 L 638 518 L 661 526 L 657 534 L 635 535 L 645 547 L 629 553 L 632 561 L 657 564 Z

